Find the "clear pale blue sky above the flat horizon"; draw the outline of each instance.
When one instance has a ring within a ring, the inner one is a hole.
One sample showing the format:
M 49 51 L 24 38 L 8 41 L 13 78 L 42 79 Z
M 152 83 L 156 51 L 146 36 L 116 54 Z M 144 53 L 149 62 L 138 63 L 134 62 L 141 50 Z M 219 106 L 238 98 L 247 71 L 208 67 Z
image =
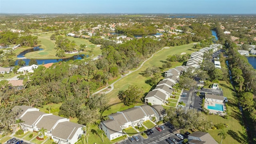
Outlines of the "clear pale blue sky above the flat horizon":
M 256 0 L 0 0 L 0 13 L 256 14 Z

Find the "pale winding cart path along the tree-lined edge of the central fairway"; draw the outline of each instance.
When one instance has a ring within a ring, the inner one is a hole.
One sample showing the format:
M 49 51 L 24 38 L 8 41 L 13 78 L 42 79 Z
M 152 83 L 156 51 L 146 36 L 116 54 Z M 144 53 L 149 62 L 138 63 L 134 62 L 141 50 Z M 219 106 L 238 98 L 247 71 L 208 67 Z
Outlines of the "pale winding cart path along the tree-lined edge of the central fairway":
M 164 47 L 164 48 L 170 48 L 170 47 Z M 162 48 L 161 50 L 159 50 L 158 52 L 162 51 L 164 48 Z M 154 53 L 154 54 L 157 54 L 158 52 Z M 150 56 L 150 58 L 152 58 L 154 56 L 154 54 L 152 54 Z M 112 90 L 114 90 L 114 84 L 116 82 L 118 82 L 119 80 L 122 80 L 124 77 L 128 76 L 129 74 L 131 74 L 132 72 L 136 72 L 137 70 L 139 70 L 143 64 L 148 61 L 150 58 L 146 59 L 144 62 L 142 62 L 142 64 L 140 64 L 140 67 L 138 67 L 136 70 L 133 70 L 133 71 L 129 71 L 127 74 L 124 74 L 121 76 L 121 78 L 119 78 L 118 80 L 116 80 L 115 82 L 113 82 L 112 84 L 110 84 L 109 86 L 111 86 L 111 89 L 108 90 L 107 92 L 104 92 L 105 94 L 108 94 L 109 92 L 111 92 Z M 98 94 L 99 92 L 102 92 L 103 90 L 106 90 L 109 86 L 106 86 L 105 88 L 102 88 L 101 90 L 98 90 L 97 92 L 94 92 L 93 94 Z

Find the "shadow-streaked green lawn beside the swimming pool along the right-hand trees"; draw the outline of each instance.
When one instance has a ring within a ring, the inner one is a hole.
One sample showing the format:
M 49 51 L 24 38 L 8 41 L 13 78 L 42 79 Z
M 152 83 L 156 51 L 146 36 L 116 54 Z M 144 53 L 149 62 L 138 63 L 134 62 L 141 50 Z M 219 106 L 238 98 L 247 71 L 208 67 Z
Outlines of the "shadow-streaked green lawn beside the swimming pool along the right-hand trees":
M 224 119 L 221 116 L 208 115 L 208 120 L 213 124 L 229 124 L 228 128 L 225 128 L 227 132 L 226 139 L 223 140 L 224 144 L 247 144 L 247 133 L 243 126 L 242 114 L 238 109 L 237 101 L 235 100 L 235 92 L 232 91 L 230 83 L 220 81 L 220 88 L 222 88 L 224 96 L 228 98 L 228 115 L 229 119 Z M 220 142 L 221 138 L 218 136 L 219 130 L 208 130 L 207 132 L 217 141 Z

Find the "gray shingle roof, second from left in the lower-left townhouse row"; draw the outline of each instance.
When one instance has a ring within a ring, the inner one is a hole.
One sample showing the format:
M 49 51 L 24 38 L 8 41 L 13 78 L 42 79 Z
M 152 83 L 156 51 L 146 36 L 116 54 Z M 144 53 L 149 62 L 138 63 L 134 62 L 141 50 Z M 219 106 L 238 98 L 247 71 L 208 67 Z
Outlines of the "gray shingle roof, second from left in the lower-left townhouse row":
M 38 118 L 40 118 L 40 116 L 42 116 L 43 114 L 46 113 L 39 111 L 26 112 L 21 120 L 24 121 L 23 124 L 32 126 L 36 122 L 36 120 L 38 120 Z

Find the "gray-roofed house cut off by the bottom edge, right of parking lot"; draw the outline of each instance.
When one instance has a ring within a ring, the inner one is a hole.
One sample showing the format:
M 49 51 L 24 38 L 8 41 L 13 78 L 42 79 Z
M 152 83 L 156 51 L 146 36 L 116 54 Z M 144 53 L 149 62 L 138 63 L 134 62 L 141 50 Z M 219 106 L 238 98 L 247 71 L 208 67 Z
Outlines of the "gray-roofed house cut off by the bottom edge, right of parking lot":
M 188 135 L 190 144 L 218 144 L 208 132 L 193 132 Z

